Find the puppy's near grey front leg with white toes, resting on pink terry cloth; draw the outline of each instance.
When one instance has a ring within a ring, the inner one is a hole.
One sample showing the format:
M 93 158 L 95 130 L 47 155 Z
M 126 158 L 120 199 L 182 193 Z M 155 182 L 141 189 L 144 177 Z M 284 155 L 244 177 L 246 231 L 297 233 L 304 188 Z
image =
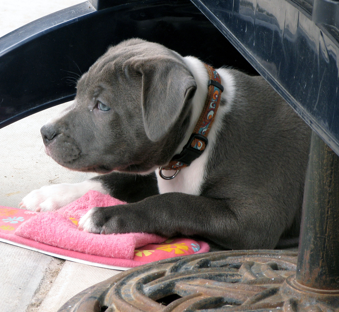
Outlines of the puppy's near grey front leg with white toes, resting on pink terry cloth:
M 102 234 L 201 236 L 227 249 L 274 248 L 282 233 L 281 226 L 267 227 L 265 217 L 251 220 L 253 214 L 246 215 L 246 211 L 241 203 L 225 199 L 165 193 L 137 203 L 93 208 L 81 218 L 79 226 Z

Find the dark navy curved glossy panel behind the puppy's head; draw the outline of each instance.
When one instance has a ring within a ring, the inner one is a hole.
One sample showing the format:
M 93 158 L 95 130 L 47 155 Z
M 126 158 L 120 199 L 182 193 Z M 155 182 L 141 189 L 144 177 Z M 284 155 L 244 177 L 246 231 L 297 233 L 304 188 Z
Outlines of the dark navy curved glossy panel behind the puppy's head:
M 0 127 L 72 100 L 79 75 L 110 45 L 132 37 L 257 74 L 192 2 L 121 2 L 99 11 L 83 2 L 0 38 Z

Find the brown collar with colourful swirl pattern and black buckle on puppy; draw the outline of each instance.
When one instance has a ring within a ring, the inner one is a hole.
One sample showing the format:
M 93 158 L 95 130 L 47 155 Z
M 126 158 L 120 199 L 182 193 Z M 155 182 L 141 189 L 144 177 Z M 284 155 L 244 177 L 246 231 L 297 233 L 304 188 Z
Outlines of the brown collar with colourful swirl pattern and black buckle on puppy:
M 224 91 L 221 85 L 221 79 L 217 71 L 210 65 L 204 64 L 210 80 L 208 81 L 208 96 L 204 109 L 200 115 L 197 125 L 187 144 L 184 146 L 180 154 L 174 155 L 167 166 L 159 168 L 159 175 L 170 180 L 176 177 L 181 168 L 187 167 L 193 160 L 198 158 L 205 150 L 208 140 L 207 134 L 211 129 L 214 121 L 215 113 L 218 110 L 220 95 Z M 173 176 L 167 177 L 162 174 L 162 170 L 176 170 Z

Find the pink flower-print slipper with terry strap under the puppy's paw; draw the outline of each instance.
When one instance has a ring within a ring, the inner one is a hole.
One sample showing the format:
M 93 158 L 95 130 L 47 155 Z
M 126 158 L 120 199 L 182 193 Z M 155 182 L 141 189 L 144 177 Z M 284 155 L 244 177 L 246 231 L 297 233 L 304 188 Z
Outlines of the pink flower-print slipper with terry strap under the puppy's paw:
M 32 212 L 0 206 L 0 240 L 73 261 L 103 267 L 131 268 L 151 261 L 208 252 L 202 241 L 166 239 L 155 234 L 100 235 L 77 228 L 92 207 L 123 204 L 109 195 L 89 191 L 55 212 Z

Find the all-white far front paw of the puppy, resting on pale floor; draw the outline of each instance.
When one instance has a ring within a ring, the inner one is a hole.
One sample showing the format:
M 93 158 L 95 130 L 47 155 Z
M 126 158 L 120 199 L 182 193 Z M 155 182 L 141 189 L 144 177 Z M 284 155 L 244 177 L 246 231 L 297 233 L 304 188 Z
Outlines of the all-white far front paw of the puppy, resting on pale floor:
M 105 193 L 105 190 L 97 181 L 84 181 L 81 183 L 61 183 L 43 186 L 26 195 L 19 203 L 21 209 L 32 211 L 52 211 L 66 206 L 80 198 L 89 190 Z

